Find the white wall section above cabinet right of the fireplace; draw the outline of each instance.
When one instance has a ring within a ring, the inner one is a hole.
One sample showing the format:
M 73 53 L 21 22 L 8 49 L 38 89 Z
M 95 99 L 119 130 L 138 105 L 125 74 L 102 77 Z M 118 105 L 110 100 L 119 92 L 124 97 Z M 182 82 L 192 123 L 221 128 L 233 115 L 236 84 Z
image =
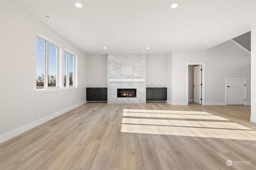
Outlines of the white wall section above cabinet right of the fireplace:
M 147 87 L 165 87 L 165 56 L 147 56 Z

